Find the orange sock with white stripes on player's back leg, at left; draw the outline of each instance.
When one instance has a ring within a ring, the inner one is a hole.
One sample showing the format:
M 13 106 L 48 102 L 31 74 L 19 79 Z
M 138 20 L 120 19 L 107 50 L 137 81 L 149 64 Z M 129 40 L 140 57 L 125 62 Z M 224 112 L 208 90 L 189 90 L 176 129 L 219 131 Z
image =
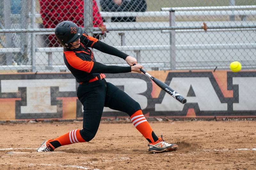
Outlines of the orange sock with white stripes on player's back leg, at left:
M 57 147 L 67 145 L 67 144 L 85 142 L 85 140 L 80 135 L 80 129 L 75 129 L 66 133 L 65 135 L 49 140 L 49 142 L 56 149 Z

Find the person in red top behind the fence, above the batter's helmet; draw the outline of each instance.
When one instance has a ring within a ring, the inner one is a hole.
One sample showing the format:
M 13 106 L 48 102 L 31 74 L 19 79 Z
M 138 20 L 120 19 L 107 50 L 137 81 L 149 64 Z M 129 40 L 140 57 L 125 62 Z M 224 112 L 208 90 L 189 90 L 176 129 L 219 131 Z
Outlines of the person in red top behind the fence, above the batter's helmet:
M 94 37 L 100 39 L 106 36 L 108 32 L 100 15 L 99 8 L 95 0 L 93 1 L 93 27 L 99 27 L 100 34 L 94 34 Z M 84 26 L 84 0 L 39 0 L 40 14 L 43 19 L 44 28 L 55 28 L 61 21 L 72 21 L 80 26 Z M 48 47 L 60 47 L 54 35 L 48 36 Z

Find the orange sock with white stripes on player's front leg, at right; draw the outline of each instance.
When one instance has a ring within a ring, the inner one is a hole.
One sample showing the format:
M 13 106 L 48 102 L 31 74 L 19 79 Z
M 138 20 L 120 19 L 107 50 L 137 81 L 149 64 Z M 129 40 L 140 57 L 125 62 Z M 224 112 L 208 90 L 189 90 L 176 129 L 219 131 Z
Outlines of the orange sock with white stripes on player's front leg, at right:
M 140 133 L 148 140 L 149 143 L 154 143 L 160 139 L 152 130 L 141 110 L 138 110 L 131 116 L 131 121 L 135 128 L 140 131 Z

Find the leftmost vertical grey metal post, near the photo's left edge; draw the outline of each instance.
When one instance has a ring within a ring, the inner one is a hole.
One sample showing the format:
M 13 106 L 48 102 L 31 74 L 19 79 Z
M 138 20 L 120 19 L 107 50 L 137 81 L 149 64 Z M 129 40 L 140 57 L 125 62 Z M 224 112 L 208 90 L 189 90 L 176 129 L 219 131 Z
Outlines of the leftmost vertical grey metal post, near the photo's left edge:
M 11 1 L 10 0 L 4 0 L 4 28 L 5 29 L 11 29 Z M 12 47 L 12 33 L 5 33 L 5 48 L 11 48 Z M 12 59 L 13 54 L 5 53 L 5 64 L 6 65 L 12 65 Z M 4 61 L 3 61 L 4 65 Z

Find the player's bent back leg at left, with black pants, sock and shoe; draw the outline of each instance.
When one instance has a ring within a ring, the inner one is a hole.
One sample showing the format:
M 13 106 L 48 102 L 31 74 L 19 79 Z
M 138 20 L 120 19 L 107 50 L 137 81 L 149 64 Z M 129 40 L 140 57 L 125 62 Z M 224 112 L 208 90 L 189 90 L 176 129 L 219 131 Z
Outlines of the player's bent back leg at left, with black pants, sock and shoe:
M 105 80 L 79 85 L 77 96 L 84 106 L 83 129 L 75 129 L 55 139 L 46 140 L 37 152 L 50 152 L 63 145 L 92 140 L 100 125 L 105 95 Z

